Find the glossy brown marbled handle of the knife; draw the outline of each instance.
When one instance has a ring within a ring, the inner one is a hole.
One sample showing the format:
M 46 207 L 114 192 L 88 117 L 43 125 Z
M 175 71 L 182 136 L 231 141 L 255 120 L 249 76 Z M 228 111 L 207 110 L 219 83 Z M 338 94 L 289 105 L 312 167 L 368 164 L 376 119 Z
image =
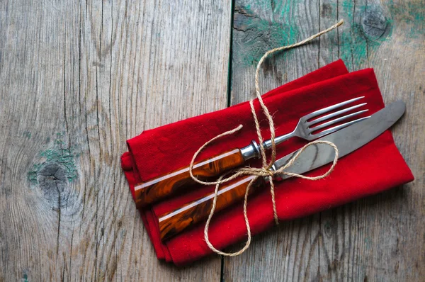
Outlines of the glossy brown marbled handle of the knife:
M 215 212 L 227 208 L 229 205 L 243 199 L 246 192 L 246 187 L 249 184 L 249 181 L 254 179 L 254 176 L 245 176 L 242 179 L 235 179 L 223 186 L 220 186 L 217 203 L 215 205 Z M 256 188 L 262 186 L 264 180 L 262 177 L 257 179 L 255 183 L 250 188 L 250 193 L 255 191 Z M 205 220 L 210 214 L 212 201 L 214 200 L 214 192 L 208 193 L 202 198 L 187 203 L 182 207 L 161 215 L 159 220 L 159 235 L 164 241 L 173 237 L 176 234 L 179 234 L 181 231 L 185 230 L 187 227 L 195 225 L 197 222 Z

